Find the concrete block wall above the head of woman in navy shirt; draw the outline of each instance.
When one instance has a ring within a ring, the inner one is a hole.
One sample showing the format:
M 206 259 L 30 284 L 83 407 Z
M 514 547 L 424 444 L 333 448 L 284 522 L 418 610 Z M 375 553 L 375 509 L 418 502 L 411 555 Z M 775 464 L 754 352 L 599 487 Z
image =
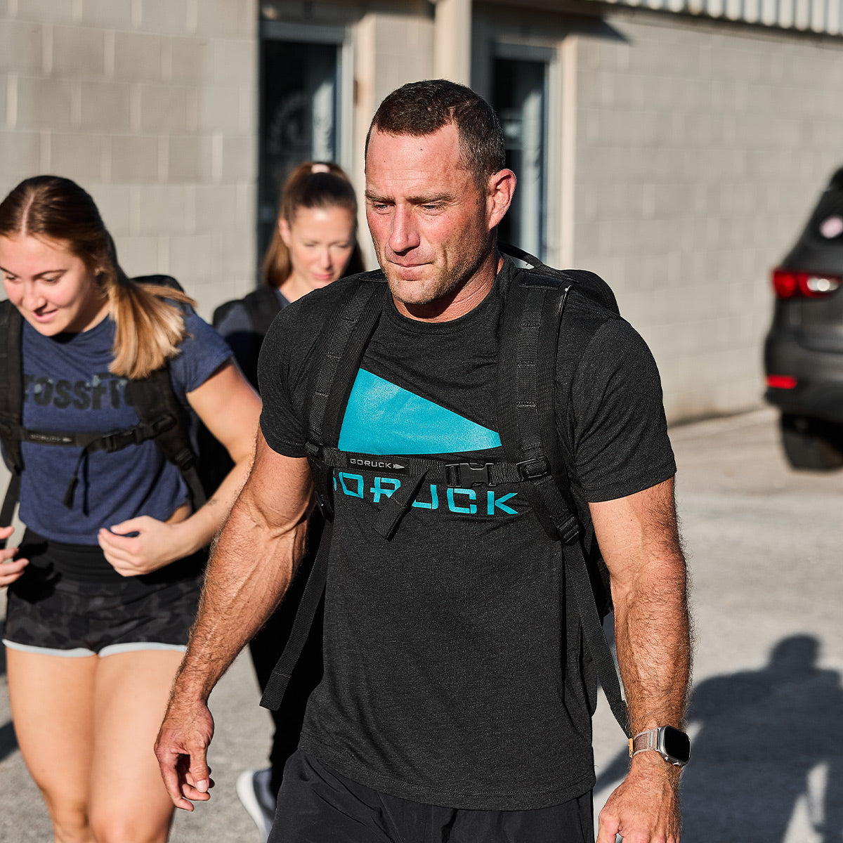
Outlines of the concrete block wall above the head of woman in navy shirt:
M 0 191 L 78 181 L 209 316 L 254 285 L 257 49 L 256 0 L 5 0 Z

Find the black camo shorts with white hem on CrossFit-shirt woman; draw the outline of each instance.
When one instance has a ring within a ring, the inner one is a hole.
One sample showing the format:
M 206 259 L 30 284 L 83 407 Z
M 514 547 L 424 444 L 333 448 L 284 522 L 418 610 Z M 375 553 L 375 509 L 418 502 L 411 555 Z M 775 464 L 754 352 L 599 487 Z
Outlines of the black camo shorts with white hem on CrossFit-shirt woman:
M 21 556 L 30 565 L 8 588 L 3 643 L 62 656 L 183 650 L 196 617 L 204 555 L 146 577 L 114 577 L 113 569 L 99 566 L 105 573 L 98 577 L 98 554 L 99 548 L 24 535 Z

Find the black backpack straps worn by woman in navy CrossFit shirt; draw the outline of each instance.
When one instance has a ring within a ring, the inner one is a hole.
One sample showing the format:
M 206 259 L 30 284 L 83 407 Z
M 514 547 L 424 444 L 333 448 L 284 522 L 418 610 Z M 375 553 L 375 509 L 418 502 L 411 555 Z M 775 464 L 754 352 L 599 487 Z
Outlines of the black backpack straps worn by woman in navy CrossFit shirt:
M 133 280 L 181 289 L 175 278 L 164 275 L 142 276 Z M 5 526 L 11 523 L 18 502 L 20 475 L 24 470 L 20 447 L 22 442 L 82 448 L 79 457 L 81 464 L 83 456 L 93 451 L 119 451 L 129 445 L 154 439 L 164 456 L 179 467 L 194 507 L 201 507 L 206 496 L 196 471 L 196 454 L 191 445 L 188 422 L 173 392 L 169 368 L 164 366 L 147 378 L 127 382 L 126 394 L 138 416 L 138 423 L 134 427 L 84 433 L 28 430 L 23 424 L 23 327 L 24 319 L 19 310 L 8 300 L 0 302 L 0 442 L 3 443 L 3 457 L 12 475 L 0 509 L 0 524 Z M 67 507 L 72 506 L 76 485 L 77 475 L 74 474 L 65 492 L 64 502 Z

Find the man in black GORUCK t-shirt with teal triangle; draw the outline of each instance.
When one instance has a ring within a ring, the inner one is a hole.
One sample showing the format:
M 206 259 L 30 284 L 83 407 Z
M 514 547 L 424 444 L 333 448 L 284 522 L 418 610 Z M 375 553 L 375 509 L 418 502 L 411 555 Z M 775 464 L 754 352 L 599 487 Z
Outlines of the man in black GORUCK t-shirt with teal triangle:
M 502 454 L 497 357 L 515 273 L 496 248 L 515 187 L 503 160 L 497 119 L 470 89 L 414 83 L 379 107 L 366 202 L 391 296 L 342 411 L 341 450 Z M 158 738 L 180 808 L 209 797 L 207 696 L 301 556 L 314 346 L 356 287 L 352 277 L 304 297 L 266 337 L 255 464 L 218 540 Z M 556 427 L 586 549 L 599 543 L 611 573 L 632 728 L 681 728 L 685 561 L 658 372 L 617 314 L 573 292 L 565 319 L 576 330 L 561 332 Z M 592 838 L 594 689 L 558 549 L 522 491 L 427 483 L 387 540 L 373 521 L 400 481 L 362 467 L 336 471 L 334 485 L 325 676 L 270 840 Z M 599 843 L 615 833 L 676 843 L 678 781 L 661 754 L 636 752 L 600 815 Z

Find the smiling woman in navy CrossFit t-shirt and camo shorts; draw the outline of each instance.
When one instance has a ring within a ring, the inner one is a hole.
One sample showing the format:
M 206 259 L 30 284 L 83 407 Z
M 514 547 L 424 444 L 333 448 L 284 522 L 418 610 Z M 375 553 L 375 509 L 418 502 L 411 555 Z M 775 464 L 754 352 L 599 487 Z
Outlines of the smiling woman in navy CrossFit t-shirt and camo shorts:
M 27 529 L 19 548 L 0 550 L 14 728 L 56 841 L 164 841 L 173 804 L 153 744 L 260 400 L 190 298 L 126 277 L 74 182 L 37 176 L 0 203 L 0 270 L 23 318 L 24 431 L 141 431 L 127 385 L 166 366 L 185 417 L 199 416 L 233 460 L 194 507 L 154 438 L 109 450 L 24 436 Z M 0 525 L 0 540 L 11 534 Z

